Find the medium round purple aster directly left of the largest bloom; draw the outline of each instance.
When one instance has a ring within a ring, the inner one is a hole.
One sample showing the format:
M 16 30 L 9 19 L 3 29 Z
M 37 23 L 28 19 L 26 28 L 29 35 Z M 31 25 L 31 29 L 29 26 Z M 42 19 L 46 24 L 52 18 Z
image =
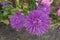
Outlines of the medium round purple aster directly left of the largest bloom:
M 12 28 L 20 30 L 24 27 L 25 17 L 21 13 L 16 13 L 10 18 Z

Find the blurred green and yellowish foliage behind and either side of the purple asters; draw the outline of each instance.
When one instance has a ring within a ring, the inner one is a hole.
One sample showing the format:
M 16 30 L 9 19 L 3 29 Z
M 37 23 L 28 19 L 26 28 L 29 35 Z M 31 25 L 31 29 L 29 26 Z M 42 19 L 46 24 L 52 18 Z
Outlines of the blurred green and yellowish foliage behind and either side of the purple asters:
M 36 0 L 0 0 L 2 2 L 8 2 L 8 6 L 0 5 L 0 22 L 9 24 L 9 19 L 16 10 L 24 13 L 25 16 L 28 15 L 30 10 L 36 9 Z M 60 17 L 57 15 L 57 10 L 60 8 L 60 0 L 54 0 L 51 4 L 51 30 L 57 28 L 60 25 Z

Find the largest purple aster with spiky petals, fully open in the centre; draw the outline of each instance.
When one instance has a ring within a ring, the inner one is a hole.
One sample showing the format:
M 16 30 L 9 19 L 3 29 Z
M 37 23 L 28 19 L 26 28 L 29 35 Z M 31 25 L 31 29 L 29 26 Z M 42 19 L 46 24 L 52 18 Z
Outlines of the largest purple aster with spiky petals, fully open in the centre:
M 29 12 L 25 22 L 26 30 L 34 35 L 45 34 L 50 28 L 50 18 L 41 10 Z

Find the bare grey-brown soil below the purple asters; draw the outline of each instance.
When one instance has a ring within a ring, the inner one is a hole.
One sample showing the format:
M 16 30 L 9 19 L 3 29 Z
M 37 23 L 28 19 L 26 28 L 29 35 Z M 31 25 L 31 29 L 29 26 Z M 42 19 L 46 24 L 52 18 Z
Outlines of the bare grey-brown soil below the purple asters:
M 0 23 L 0 40 L 60 40 L 60 28 L 48 31 L 42 36 L 29 34 L 25 28 L 16 31 L 10 25 Z

